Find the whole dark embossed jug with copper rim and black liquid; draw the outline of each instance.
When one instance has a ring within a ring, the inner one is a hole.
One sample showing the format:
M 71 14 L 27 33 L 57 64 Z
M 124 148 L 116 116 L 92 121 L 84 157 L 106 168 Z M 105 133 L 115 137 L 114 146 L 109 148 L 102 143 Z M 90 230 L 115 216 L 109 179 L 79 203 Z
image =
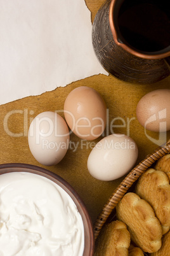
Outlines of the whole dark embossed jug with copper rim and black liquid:
M 165 0 L 107 0 L 92 29 L 103 68 L 130 83 L 155 83 L 170 75 L 170 8 Z

